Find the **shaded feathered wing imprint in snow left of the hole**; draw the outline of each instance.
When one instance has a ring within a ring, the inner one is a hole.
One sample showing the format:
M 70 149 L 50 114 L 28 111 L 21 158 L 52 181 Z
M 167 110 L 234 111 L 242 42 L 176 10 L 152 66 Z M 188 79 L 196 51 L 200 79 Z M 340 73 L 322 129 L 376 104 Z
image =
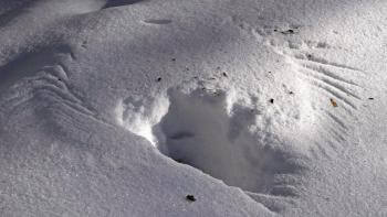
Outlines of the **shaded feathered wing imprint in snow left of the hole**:
M 69 55 L 70 59 L 74 61 L 70 47 L 60 47 L 36 53 L 32 57 L 27 55 L 15 64 L 11 63 L 1 68 L 3 69 L 1 76 L 4 78 L 2 88 L 6 88 L 0 94 L 1 119 L 4 122 L 11 121 L 28 109 L 36 112 L 45 110 L 48 116 L 44 119 L 57 119 L 60 110 L 67 110 L 73 115 L 82 115 L 94 121 L 113 126 L 102 120 L 97 111 L 71 85 L 67 68 L 55 59 L 56 54 Z M 22 64 L 18 64 L 19 62 Z M 39 66 L 42 63 L 43 66 Z M 69 113 L 67 111 L 64 113 Z M 71 115 L 69 117 L 71 118 Z

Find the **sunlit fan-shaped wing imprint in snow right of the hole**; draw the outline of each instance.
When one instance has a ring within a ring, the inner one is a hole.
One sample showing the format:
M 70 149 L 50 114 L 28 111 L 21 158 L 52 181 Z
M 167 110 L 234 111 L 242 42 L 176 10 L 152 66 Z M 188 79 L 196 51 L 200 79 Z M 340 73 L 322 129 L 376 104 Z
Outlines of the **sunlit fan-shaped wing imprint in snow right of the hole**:
M 357 120 L 363 90 L 356 79 L 364 76 L 365 72 L 314 54 L 318 50 L 337 48 L 325 42 L 306 41 L 299 46 L 289 47 L 275 46 L 275 43 L 269 44 L 275 53 L 293 66 L 299 78 L 311 87 L 311 96 L 316 96 L 311 98 L 311 102 L 318 105 L 315 106 L 315 115 L 322 127 L 317 133 L 324 138 L 326 145 L 316 141 L 316 145 L 312 148 L 312 154 L 331 159 L 333 154 L 342 152 L 345 149 L 342 144 L 347 141 L 356 126 L 354 122 Z M 325 99 L 325 101 L 315 101 L 316 99 Z M 337 105 L 333 105 L 332 100 Z

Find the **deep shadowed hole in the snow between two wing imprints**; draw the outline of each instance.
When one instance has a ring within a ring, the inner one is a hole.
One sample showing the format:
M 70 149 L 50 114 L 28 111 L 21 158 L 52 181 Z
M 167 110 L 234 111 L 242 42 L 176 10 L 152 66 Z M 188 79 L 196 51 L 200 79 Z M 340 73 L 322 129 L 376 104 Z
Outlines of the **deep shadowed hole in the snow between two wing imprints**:
M 123 99 L 117 121 L 163 154 L 240 187 L 278 211 L 279 200 L 299 196 L 305 160 L 275 147 L 276 135 L 257 122 L 258 108 L 234 97 L 232 90 L 171 87 L 161 96 Z

